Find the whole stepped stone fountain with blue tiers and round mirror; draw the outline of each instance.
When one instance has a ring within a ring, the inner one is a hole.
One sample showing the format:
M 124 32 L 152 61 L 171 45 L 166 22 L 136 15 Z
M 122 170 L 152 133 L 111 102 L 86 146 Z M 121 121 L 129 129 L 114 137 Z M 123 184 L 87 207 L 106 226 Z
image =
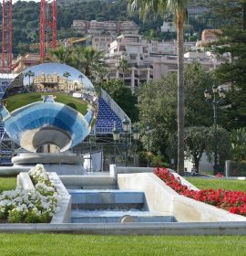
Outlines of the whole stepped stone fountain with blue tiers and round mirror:
M 110 165 L 107 174 L 85 175 L 81 156 L 69 152 L 96 122 L 97 94 L 87 77 L 64 64 L 26 69 L 5 91 L 0 115 L 5 131 L 26 150 L 1 175 L 43 164 L 61 197 L 50 224 L 0 225 L 7 231 L 77 231 L 97 234 L 246 233 L 246 218 L 179 196 L 151 168 Z M 178 175 L 175 174 L 177 177 Z M 179 176 L 183 184 L 189 182 Z M 32 185 L 21 173 L 18 184 Z M 191 223 L 194 222 L 194 223 Z M 206 223 L 204 223 L 206 222 Z

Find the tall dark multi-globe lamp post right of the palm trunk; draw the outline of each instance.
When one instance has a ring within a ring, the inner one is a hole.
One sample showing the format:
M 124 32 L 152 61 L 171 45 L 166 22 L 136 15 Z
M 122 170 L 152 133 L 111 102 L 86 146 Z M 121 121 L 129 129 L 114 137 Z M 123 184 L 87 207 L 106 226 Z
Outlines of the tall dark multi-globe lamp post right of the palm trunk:
M 213 94 L 213 95 L 212 95 Z M 212 94 L 209 90 L 204 91 L 204 97 L 207 102 L 210 102 L 212 104 L 213 108 L 213 125 L 214 125 L 214 165 L 213 165 L 213 172 L 214 175 L 216 175 L 218 170 L 218 146 L 217 146 L 217 139 L 218 139 L 218 133 L 217 133 L 217 112 L 218 112 L 218 106 L 220 103 L 222 103 L 225 99 L 225 90 L 222 87 L 218 87 L 216 85 L 212 86 Z M 219 98 L 218 95 L 219 94 Z

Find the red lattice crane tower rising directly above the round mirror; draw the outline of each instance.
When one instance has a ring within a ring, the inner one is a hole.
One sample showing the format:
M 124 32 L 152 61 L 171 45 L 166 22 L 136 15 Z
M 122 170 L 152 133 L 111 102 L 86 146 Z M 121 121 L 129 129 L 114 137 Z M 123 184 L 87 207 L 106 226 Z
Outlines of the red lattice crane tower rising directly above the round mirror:
M 40 3 L 40 59 L 43 63 L 50 42 L 56 48 L 56 0 L 41 0 Z

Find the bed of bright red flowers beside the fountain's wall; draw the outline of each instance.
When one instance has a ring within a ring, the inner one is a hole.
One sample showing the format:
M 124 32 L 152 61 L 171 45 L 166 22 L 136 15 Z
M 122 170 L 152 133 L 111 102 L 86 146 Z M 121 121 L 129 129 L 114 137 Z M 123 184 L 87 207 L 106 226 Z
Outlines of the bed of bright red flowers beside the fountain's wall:
M 244 192 L 224 189 L 202 189 L 195 191 L 182 185 L 179 177 L 175 178 L 175 176 L 169 173 L 167 168 L 156 168 L 155 174 L 179 195 L 228 210 L 234 214 L 246 216 L 246 193 Z

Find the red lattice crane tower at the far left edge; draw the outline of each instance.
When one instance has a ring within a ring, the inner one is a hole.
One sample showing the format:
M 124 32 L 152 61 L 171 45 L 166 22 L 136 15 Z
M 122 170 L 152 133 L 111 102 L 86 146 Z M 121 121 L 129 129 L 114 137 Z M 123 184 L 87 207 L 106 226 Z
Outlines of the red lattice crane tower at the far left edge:
M 11 73 L 13 43 L 12 0 L 3 0 L 2 16 L 2 73 Z

